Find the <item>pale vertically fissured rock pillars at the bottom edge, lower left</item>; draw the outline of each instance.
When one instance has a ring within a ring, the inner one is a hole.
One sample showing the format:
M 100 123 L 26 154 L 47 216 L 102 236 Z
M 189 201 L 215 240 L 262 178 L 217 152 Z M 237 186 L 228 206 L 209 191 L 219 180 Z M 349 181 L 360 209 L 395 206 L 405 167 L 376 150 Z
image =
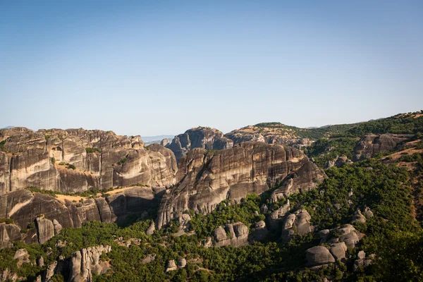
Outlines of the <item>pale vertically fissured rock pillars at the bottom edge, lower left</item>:
M 109 263 L 100 261 L 100 256 L 103 252 L 107 253 L 110 251 L 110 246 L 99 245 L 97 247 L 87 247 L 86 249 L 74 252 L 69 267 L 69 281 L 92 281 L 93 273 L 106 273 L 109 269 Z

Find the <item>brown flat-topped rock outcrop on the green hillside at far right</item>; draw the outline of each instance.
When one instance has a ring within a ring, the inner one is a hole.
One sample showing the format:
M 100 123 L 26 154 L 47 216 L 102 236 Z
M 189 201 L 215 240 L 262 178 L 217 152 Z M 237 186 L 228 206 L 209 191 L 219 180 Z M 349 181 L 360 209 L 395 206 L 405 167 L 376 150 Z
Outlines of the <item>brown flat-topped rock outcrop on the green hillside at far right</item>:
M 400 142 L 410 138 L 410 135 L 382 134 L 362 137 L 354 149 L 353 161 L 361 161 L 375 154 L 395 149 Z

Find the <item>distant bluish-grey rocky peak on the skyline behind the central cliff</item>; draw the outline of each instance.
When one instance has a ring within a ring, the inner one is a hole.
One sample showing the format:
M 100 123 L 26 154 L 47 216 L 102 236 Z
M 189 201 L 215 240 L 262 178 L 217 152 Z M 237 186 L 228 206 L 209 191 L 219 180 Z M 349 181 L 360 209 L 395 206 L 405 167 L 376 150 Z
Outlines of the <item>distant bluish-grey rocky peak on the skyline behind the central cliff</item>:
M 166 144 L 166 142 L 164 142 Z M 224 137 L 221 131 L 214 128 L 191 128 L 173 138 L 166 147 L 172 150 L 176 159 L 181 159 L 190 149 L 228 149 L 233 141 Z

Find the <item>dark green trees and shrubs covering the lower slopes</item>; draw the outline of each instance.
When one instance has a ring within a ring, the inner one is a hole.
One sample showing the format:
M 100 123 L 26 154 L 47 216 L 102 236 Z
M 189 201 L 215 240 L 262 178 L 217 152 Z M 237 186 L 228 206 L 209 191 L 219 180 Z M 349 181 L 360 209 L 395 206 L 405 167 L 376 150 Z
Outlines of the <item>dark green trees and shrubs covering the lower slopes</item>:
M 151 219 L 128 226 L 94 221 L 83 223 L 82 228 L 64 228 L 44 245 L 16 243 L 12 249 L 0 250 L 0 271 L 8 268 L 33 281 L 46 266 L 23 264 L 18 268 L 13 254 L 19 248 L 25 247 L 30 259 L 43 256 L 48 265 L 60 255 L 69 257 L 83 247 L 103 244 L 112 246 L 112 251 L 102 256 L 109 260 L 111 269 L 106 275 L 94 275 L 94 281 L 321 281 L 324 276 L 331 276 L 333 281 L 421 281 L 423 235 L 413 218 L 410 173 L 374 159 L 333 167 L 326 173 L 329 177 L 316 189 L 290 195 L 289 200 L 293 210 L 307 209 L 317 230 L 349 223 L 357 209 L 372 209 L 374 217 L 364 224 L 355 223 L 365 236 L 360 247 L 348 251 L 350 260 L 346 264 L 337 262 L 317 271 L 301 271 L 305 250 L 319 244 L 316 233 L 295 235 L 289 243 L 269 236 L 268 241 L 244 247 L 202 247 L 201 240 L 212 235 L 217 226 L 242 221 L 251 228 L 252 223 L 286 202 L 269 203 L 270 193 L 264 193 L 261 197 L 249 195 L 240 204 L 224 201 L 207 215 L 190 211 L 191 229 L 195 231 L 190 236 L 171 235 L 178 231 L 176 221 L 147 236 Z M 353 195 L 349 195 L 351 191 Z M 259 212 L 263 203 L 269 207 L 266 214 Z M 126 247 L 120 237 L 137 241 Z M 59 240 L 66 245 L 57 247 Z M 374 253 L 379 259 L 367 269 L 354 272 L 358 250 Z M 142 259 L 149 254 L 156 255 L 154 261 L 143 264 Z M 187 259 L 187 266 L 166 273 L 168 260 L 181 257 Z

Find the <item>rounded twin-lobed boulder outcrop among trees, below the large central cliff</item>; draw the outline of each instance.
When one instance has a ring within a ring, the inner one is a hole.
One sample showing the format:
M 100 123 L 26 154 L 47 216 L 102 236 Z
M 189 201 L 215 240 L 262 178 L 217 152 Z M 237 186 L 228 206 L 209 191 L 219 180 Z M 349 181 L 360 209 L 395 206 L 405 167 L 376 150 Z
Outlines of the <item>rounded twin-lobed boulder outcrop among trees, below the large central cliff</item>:
M 226 224 L 225 228 L 219 226 L 213 231 L 214 246 L 223 247 L 232 245 L 240 247 L 248 245 L 248 228 L 242 222 Z

